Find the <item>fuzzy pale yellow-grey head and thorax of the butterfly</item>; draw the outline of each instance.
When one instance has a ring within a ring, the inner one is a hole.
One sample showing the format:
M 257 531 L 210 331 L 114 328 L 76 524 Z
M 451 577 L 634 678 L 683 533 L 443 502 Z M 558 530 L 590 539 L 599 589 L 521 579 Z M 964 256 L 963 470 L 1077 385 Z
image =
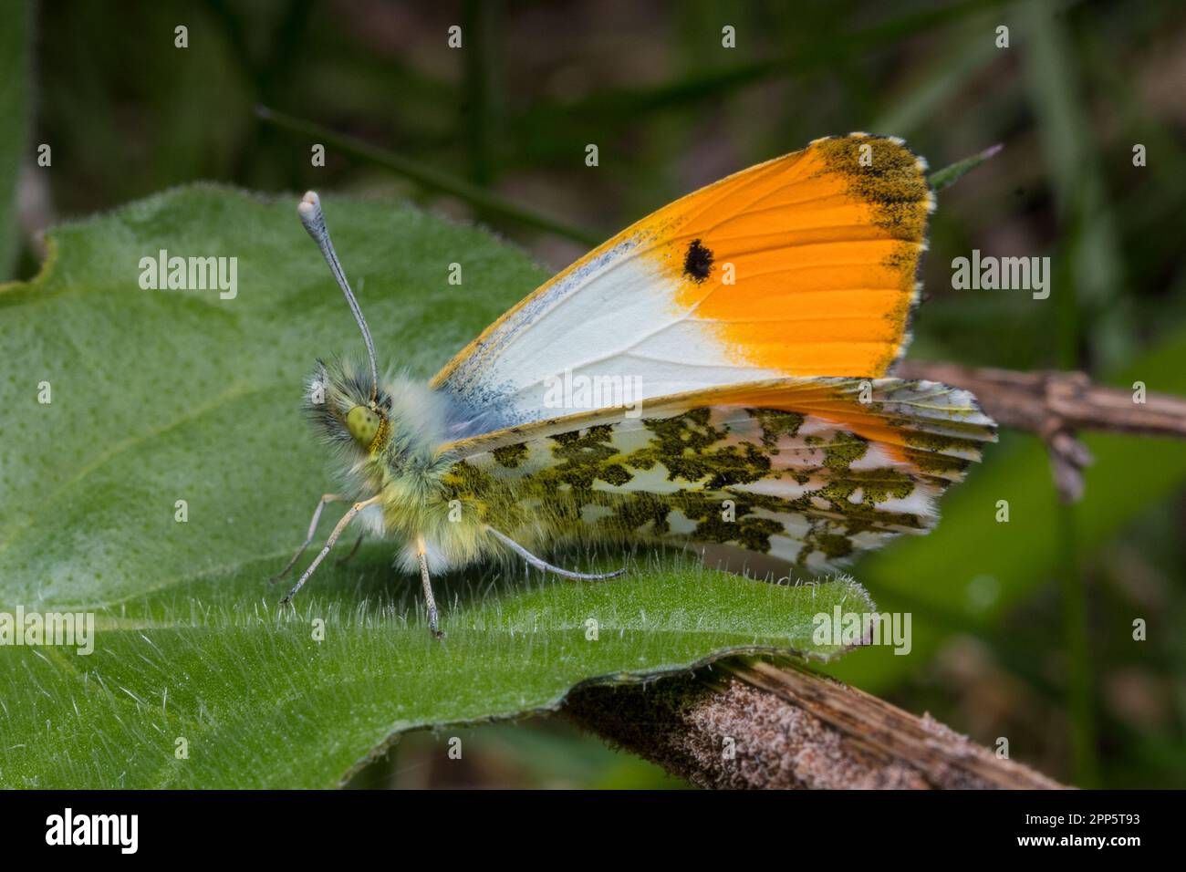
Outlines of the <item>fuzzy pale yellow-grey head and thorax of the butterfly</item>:
M 382 494 L 382 511 L 359 517 L 371 535 L 402 543 L 396 565 L 414 571 L 423 537 L 433 572 L 497 550 L 472 511 L 449 505 L 442 478 L 455 462 L 442 451 L 446 399 L 403 375 L 382 378 L 371 401 L 369 368 L 333 358 L 308 380 L 305 409 L 334 454 L 337 478 L 352 498 Z

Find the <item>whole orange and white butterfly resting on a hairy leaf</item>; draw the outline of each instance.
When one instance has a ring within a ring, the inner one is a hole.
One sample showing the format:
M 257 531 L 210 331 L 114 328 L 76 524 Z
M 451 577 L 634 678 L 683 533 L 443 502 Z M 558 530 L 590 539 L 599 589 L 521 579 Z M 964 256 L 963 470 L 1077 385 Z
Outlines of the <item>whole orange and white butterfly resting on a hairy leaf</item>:
M 968 392 L 890 375 L 908 340 L 935 196 L 895 138 L 811 142 L 626 228 L 423 384 L 380 377 L 320 201 L 298 212 L 366 359 L 319 362 L 305 408 L 352 523 L 432 575 L 557 543 L 723 545 L 821 571 L 925 533 L 995 424 Z

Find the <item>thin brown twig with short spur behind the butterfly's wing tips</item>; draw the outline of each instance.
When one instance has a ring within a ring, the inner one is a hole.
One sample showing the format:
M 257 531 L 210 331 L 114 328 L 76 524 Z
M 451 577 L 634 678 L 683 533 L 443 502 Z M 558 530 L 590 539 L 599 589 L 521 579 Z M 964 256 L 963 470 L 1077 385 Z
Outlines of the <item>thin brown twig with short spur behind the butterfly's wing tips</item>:
M 1083 373 L 1014 373 L 956 363 L 905 361 L 895 375 L 967 388 L 984 412 L 1006 427 L 1037 433 L 1050 451 L 1054 484 L 1065 502 L 1083 496 L 1083 469 L 1091 453 L 1076 433 L 1098 429 L 1186 438 L 1186 399 L 1092 384 Z

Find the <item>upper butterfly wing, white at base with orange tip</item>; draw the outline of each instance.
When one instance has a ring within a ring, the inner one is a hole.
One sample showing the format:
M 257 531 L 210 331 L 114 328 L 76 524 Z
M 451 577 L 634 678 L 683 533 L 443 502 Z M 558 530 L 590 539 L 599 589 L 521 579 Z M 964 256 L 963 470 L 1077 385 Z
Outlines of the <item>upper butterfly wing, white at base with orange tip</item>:
M 780 376 L 881 376 L 903 351 L 933 197 L 900 140 L 866 134 L 701 189 L 499 318 L 433 380 L 457 435 L 548 416 L 560 374 L 642 396 Z

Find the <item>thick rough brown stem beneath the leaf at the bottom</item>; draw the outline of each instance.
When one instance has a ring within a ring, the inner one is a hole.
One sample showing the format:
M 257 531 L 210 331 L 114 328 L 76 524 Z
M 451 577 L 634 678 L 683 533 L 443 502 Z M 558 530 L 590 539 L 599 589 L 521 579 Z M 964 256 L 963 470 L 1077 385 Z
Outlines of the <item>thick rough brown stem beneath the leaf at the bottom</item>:
M 752 658 L 699 676 L 579 688 L 563 711 L 703 788 L 1063 787 L 927 715 Z

